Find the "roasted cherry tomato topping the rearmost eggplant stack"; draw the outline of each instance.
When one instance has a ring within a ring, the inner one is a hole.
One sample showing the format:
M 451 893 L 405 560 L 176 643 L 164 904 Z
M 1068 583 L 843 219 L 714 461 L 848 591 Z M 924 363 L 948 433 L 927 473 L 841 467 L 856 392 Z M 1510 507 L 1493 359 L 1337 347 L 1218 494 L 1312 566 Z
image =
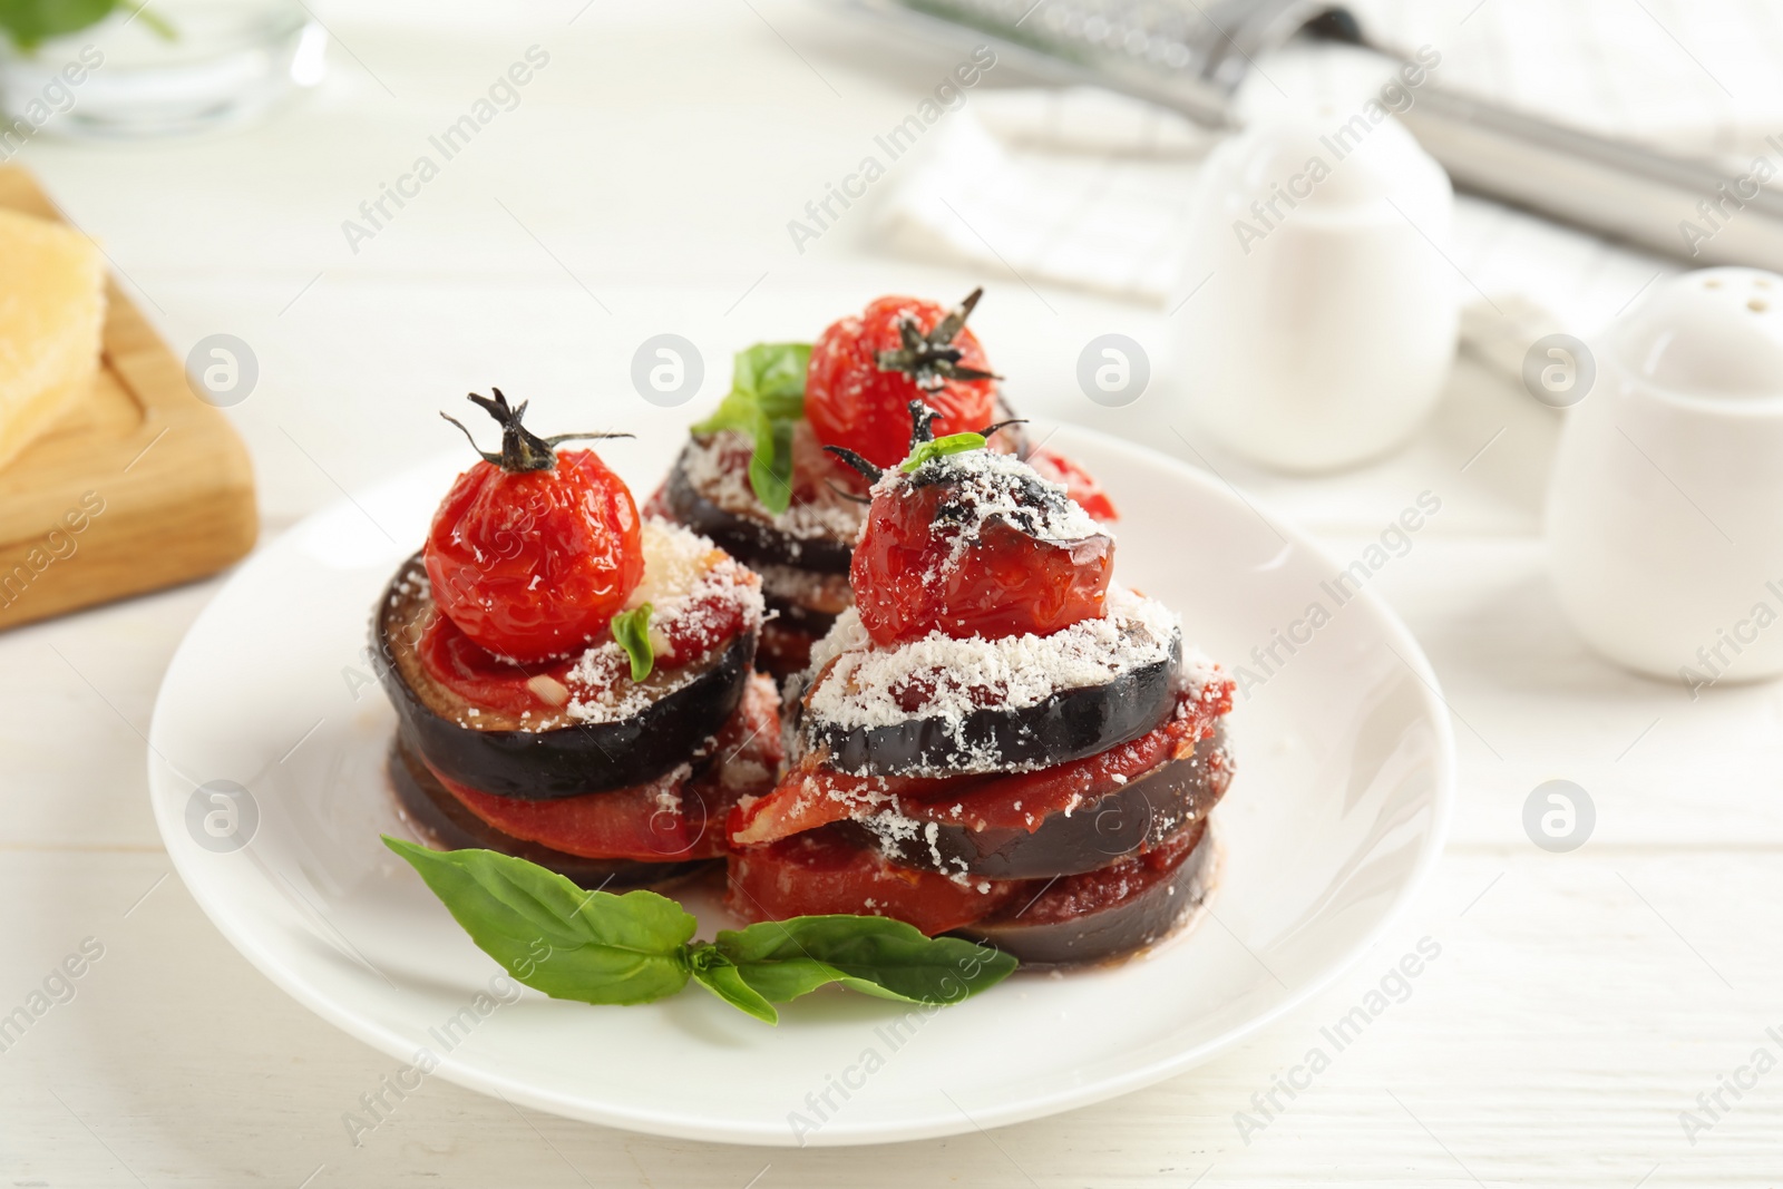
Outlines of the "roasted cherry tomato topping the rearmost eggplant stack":
M 920 298 L 879 298 L 818 335 L 804 378 L 804 415 L 824 446 L 845 446 L 879 467 L 902 462 L 915 399 L 940 414 L 936 437 L 990 424 L 997 376 L 966 330 L 982 292 L 974 289 L 952 310 Z

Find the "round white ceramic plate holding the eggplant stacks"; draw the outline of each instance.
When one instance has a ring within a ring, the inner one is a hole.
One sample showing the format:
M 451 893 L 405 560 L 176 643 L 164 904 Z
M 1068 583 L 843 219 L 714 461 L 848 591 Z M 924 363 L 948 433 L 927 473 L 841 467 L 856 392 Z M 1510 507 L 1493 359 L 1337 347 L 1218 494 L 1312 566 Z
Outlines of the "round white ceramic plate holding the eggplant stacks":
M 594 1123 L 861 1144 L 1032 1119 L 1180 1073 L 1314 995 L 1414 895 L 1453 795 L 1448 713 L 1407 629 L 1368 592 L 1337 606 L 1319 585 L 1337 567 L 1302 535 L 1161 455 L 1077 428 L 1054 444 L 1104 476 L 1122 508 L 1120 579 L 1262 679 L 1230 718 L 1218 922 L 1146 957 L 1016 975 L 902 1029 L 892 1004 L 842 991 L 788 1005 L 777 1029 L 692 986 L 647 1007 L 489 996 L 499 966 L 378 841 L 405 831 L 383 777 L 394 713 L 364 658 L 373 601 L 464 456 L 310 517 L 193 626 L 150 736 L 168 852 L 218 929 L 385 1052 L 398 1084 L 414 1082 L 396 1073 L 424 1048 L 435 1077 Z M 672 446 L 603 453 L 642 496 Z M 1284 663 L 1266 674 L 1252 649 L 1312 603 L 1330 622 L 1293 656 L 1277 644 Z M 216 800 L 216 781 L 250 791 Z M 237 841 L 251 827 L 237 849 L 216 838 L 232 808 Z M 207 813 L 221 815 L 209 831 Z M 729 923 L 711 902 L 690 907 L 703 936 Z

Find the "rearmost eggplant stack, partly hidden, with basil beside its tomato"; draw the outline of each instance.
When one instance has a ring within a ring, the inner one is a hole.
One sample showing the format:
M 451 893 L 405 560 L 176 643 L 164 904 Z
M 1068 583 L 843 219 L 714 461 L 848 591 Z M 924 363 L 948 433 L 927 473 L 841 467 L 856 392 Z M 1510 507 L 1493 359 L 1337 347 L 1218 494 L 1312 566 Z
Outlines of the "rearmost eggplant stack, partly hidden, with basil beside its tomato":
M 1095 480 L 1068 458 L 1029 449 L 1011 421 L 984 348 L 966 326 L 982 291 L 954 308 L 879 298 L 833 323 L 815 344 L 758 344 L 738 353 L 731 392 L 692 428 L 649 510 L 711 537 L 761 574 L 767 608 L 758 665 L 786 677 L 852 604 L 849 565 L 867 515 L 867 483 L 827 453 L 897 465 L 909 406 L 933 431 L 982 431 L 990 449 L 1027 458 L 1064 483 L 1091 515 L 1114 519 Z M 1000 424 L 998 417 L 1002 417 Z

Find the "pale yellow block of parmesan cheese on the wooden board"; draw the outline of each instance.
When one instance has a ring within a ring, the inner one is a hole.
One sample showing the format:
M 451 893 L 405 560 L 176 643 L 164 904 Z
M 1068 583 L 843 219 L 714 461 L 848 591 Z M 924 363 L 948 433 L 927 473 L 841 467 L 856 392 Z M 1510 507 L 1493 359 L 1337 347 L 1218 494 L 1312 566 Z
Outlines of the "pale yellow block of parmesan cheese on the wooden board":
M 91 387 L 103 321 L 93 241 L 0 210 L 0 467 Z

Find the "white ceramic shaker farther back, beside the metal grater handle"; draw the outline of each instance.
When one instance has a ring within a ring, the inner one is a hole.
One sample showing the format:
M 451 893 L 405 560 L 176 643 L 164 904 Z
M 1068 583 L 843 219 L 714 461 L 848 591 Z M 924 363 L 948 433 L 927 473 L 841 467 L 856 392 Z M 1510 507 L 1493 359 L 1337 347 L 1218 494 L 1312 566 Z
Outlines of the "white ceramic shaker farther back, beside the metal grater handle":
M 1455 358 L 1453 207 L 1448 175 L 1391 116 L 1275 118 L 1214 150 L 1171 319 L 1196 421 L 1287 471 L 1410 437 Z

